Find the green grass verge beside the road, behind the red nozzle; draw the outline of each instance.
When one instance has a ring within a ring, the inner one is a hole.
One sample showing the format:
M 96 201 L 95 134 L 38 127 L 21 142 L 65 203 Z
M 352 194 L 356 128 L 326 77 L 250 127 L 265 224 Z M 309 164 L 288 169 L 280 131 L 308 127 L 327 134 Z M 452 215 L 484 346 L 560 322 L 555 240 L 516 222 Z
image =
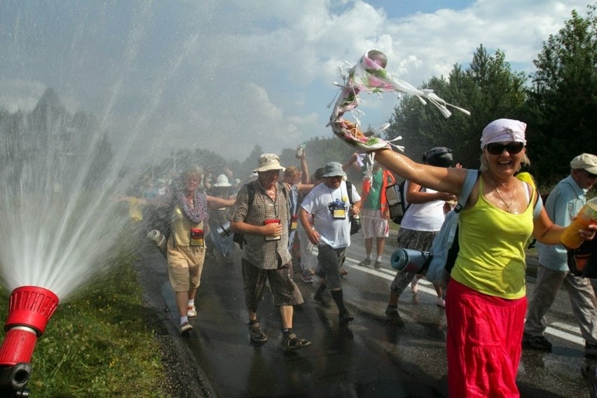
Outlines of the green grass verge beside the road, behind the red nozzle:
M 58 306 L 33 353 L 32 395 L 170 397 L 152 328 L 156 317 L 143 306 L 134 260 L 123 256 L 78 299 Z M 1 291 L 2 320 L 9 294 Z

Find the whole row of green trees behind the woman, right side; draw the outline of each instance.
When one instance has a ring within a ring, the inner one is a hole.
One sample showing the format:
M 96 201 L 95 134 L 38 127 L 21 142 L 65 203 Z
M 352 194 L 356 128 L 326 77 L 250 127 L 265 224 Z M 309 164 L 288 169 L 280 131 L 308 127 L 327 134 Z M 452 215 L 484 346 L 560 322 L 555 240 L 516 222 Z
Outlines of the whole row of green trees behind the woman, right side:
M 537 183 L 549 187 L 570 171 L 579 153 L 597 153 L 597 17 L 596 4 L 584 17 L 572 18 L 544 41 L 533 61 L 533 74 L 513 71 L 506 54 L 489 54 L 481 44 L 468 67 L 455 64 L 447 77 L 423 83 L 471 111 L 444 118 L 437 109 L 407 97 L 396 107 L 384 137 L 402 136 L 406 154 L 418 160 L 432 146 L 448 146 L 464 167 L 479 167 L 483 128 L 497 118 L 528 124 L 527 153 Z

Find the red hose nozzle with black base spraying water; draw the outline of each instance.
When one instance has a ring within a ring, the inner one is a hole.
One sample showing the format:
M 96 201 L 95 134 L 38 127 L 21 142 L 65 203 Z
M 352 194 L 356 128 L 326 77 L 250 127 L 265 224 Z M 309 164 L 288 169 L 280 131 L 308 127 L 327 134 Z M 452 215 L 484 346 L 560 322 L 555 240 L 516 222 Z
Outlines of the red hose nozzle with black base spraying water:
M 58 306 L 58 296 L 36 286 L 14 289 L 4 324 L 6 336 L 0 347 L 0 395 L 28 397 L 31 357 L 35 343 Z

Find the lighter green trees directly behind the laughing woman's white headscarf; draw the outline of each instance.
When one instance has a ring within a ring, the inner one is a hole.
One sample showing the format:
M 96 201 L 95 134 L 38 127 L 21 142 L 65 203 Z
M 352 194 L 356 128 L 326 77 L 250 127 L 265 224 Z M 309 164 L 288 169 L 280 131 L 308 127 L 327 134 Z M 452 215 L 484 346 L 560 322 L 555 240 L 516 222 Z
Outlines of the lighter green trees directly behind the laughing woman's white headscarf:
M 423 107 L 418 98 L 407 97 L 394 108 L 386 138 L 402 135 L 398 144 L 406 146 L 406 155 L 416 160 L 433 146 L 447 146 L 455 161 L 478 167 L 483 128 L 497 118 L 518 118 L 523 112 L 526 76 L 513 72 L 505 59 L 501 50 L 488 55 L 481 45 L 467 69 L 456 64 L 447 79 L 433 77 L 423 84 L 471 116 L 453 111 L 446 119 L 433 105 Z

